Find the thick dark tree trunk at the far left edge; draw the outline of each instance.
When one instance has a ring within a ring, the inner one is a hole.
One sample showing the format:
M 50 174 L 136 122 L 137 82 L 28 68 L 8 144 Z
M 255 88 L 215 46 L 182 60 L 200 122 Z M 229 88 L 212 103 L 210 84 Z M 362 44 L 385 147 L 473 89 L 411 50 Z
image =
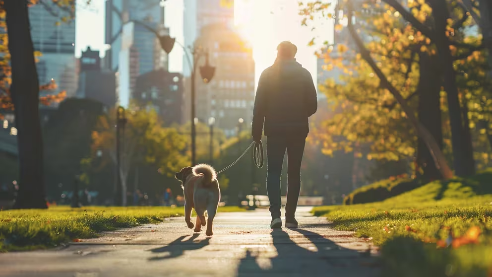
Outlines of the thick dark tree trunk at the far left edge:
M 19 152 L 19 192 L 14 208 L 47 208 L 43 139 L 39 119 L 39 81 L 26 0 L 4 0 L 11 56 L 15 127 Z

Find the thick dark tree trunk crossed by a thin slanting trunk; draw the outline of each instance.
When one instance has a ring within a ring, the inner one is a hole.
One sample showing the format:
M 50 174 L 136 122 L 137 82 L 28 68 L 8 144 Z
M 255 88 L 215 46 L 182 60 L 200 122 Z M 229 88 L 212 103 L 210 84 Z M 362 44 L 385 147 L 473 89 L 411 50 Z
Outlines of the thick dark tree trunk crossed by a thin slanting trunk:
M 420 53 L 419 66 L 419 122 L 429 130 L 442 150 L 442 120 L 440 109 L 440 87 L 442 73 L 435 68 L 436 59 L 427 53 Z M 431 152 L 422 138 L 417 147 L 417 165 L 424 170 L 425 181 L 441 179 L 442 175 L 435 166 Z

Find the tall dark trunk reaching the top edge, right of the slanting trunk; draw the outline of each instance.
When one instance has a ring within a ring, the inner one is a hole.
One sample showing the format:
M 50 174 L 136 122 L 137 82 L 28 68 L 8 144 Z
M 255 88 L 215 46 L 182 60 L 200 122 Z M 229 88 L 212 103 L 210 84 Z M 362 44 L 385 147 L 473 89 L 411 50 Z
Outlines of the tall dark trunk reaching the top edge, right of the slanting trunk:
M 449 49 L 449 38 L 446 36 L 447 19 L 450 18 L 449 10 L 446 0 L 430 0 L 429 2 L 432 5 L 432 14 L 435 21 L 435 44 L 437 46 L 440 64 L 444 69 L 444 90 L 447 94 L 449 107 L 454 170 L 458 176 L 472 175 L 475 173 L 474 170 L 471 170 L 471 167 L 467 166 L 467 164 L 473 163 L 473 159 L 470 160 L 470 155 L 467 153 L 467 150 L 472 148 L 472 146 L 467 145 L 467 141 L 463 136 L 465 130 L 463 128 L 462 110 L 458 97 L 458 88 L 456 86 L 456 72 L 453 67 L 453 56 Z

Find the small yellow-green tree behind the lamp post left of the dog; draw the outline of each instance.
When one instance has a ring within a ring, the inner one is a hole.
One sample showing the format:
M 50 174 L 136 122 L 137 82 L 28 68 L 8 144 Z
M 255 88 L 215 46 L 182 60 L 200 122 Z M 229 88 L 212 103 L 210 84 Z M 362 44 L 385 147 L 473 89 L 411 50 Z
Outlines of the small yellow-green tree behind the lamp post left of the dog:
M 175 128 L 163 128 L 155 111 L 129 108 L 127 124 L 121 137 L 121 169 L 123 206 L 126 206 L 128 175 L 139 165 L 154 166 L 154 170 L 167 176 L 187 165 L 184 155 L 186 138 Z M 92 153 L 102 150 L 105 164 L 116 164 L 115 135 L 116 112 L 100 117 L 96 131 L 92 133 Z M 115 184 L 116 191 L 116 184 Z

